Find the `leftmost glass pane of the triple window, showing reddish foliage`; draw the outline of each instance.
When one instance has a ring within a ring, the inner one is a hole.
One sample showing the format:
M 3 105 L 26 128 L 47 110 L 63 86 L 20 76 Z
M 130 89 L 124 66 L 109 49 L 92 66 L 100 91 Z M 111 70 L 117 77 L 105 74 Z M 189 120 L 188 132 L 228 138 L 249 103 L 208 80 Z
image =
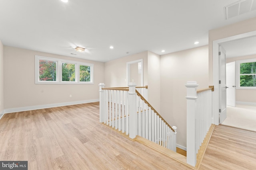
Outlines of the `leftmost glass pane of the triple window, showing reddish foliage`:
M 39 80 L 56 81 L 56 61 L 39 60 Z

